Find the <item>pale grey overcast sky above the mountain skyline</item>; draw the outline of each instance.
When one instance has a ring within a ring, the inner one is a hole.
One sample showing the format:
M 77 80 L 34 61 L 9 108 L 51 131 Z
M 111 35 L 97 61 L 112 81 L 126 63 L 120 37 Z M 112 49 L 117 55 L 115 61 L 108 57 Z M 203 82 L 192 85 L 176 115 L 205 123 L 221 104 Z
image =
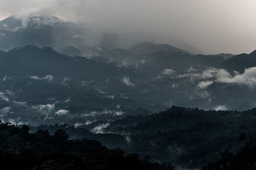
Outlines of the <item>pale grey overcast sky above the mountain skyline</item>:
M 51 15 L 112 32 L 170 35 L 208 54 L 256 50 L 255 0 L 0 0 L 0 19 Z

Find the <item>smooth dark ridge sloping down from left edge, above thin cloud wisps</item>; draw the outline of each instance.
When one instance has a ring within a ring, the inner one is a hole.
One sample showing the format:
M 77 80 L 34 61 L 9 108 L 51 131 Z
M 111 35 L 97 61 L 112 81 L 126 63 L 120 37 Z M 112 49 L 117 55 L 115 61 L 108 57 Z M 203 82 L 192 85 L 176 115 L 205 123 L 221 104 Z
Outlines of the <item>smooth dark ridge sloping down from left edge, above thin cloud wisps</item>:
M 94 77 L 102 80 L 113 74 L 122 74 L 119 67 L 87 60 L 85 57 L 61 55 L 50 47 L 39 48 L 26 45 L 25 47 L 14 48 L 9 52 L 0 52 L 0 54 L 0 68 L 5 68 L 16 74 L 38 76 L 52 74 L 61 77 L 72 76 L 79 79 Z M 102 74 L 101 70 L 106 70 L 106 72 Z M 7 72 L 1 74 L 7 74 Z M 103 77 L 100 78 L 99 75 Z

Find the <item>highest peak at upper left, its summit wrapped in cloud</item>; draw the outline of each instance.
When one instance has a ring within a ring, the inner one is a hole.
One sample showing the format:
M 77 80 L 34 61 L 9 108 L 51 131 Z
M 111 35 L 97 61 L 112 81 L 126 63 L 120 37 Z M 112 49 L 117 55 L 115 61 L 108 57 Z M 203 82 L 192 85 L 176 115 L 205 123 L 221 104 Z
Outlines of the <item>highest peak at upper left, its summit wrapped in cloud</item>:
M 86 39 L 101 36 L 99 34 L 53 16 L 30 16 L 23 20 L 11 16 L 0 22 L 0 47 L 1 50 L 11 50 L 25 45 L 55 48 L 90 45 Z

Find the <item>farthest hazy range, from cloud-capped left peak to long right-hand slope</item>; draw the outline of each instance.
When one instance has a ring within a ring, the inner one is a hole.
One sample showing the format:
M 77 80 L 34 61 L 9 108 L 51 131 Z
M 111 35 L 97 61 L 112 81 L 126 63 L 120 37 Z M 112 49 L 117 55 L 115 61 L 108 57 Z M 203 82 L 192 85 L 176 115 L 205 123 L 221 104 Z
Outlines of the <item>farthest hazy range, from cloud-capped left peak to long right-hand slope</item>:
M 0 50 L 13 47 L 36 45 L 49 46 L 60 50 L 66 46 L 101 46 L 108 49 L 126 49 L 138 42 L 167 42 L 181 49 L 188 49 L 198 54 L 199 50 L 175 38 L 153 35 L 150 33 L 106 33 L 104 29 L 91 27 L 89 24 L 75 24 L 49 16 L 30 16 L 16 18 L 10 16 L 0 21 Z

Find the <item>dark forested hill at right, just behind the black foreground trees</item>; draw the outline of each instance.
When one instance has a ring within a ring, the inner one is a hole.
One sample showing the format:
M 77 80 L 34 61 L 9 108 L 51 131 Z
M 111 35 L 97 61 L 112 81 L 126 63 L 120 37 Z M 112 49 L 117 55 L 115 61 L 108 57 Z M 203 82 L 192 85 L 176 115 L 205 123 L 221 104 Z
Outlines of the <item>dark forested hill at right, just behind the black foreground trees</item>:
M 151 161 L 172 162 L 196 169 L 222 159 L 221 153 L 236 154 L 251 143 L 255 130 L 255 108 L 247 111 L 205 111 L 172 106 L 150 115 L 126 115 L 113 121 L 97 121 L 74 127 L 67 124 L 30 127 L 54 134 L 65 130 L 72 139 L 87 138 L 127 153 L 150 156 Z M 108 125 L 104 127 L 104 125 Z M 95 132 L 94 127 L 102 128 Z M 243 137 L 241 137 L 241 135 Z M 251 145 L 250 145 L 251 146 Z M 189 161 L 188 161 L 189 160 Z

